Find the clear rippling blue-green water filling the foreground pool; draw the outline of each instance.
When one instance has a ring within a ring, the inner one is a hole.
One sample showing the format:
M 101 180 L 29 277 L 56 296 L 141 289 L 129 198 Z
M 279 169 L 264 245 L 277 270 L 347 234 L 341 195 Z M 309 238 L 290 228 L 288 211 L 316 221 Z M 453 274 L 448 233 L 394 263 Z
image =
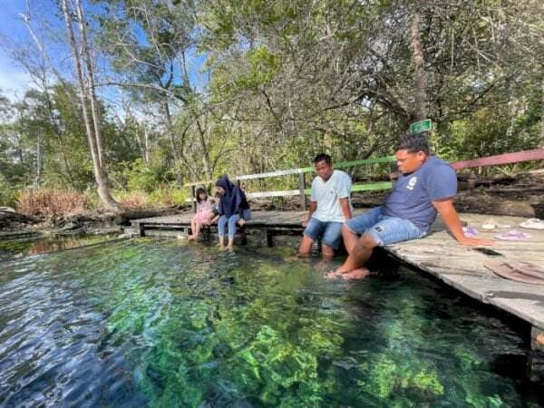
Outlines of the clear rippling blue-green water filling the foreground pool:
M 0 406 L 539 406 L 506 321 L 401 269 L 115 242 L 0 263 Z

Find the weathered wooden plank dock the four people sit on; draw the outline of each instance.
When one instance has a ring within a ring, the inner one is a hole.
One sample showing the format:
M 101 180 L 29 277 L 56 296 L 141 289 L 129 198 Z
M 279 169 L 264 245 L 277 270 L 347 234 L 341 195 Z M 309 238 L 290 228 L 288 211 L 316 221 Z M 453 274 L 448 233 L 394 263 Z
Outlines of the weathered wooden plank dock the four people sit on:
M 355 210 L 355 215 L 364 210 Z M 256 237 L 260 233 L 266 245 L 275 245 L 278 236 L 300 236 L 304 228 L 300 225 L 306 217 L 306 211 L 256 211 L 248 221 L 246 233 Z M 136 219 L 132 227 L 146 235 L 151 231 L 175 230 L 186 233 L 190 228 L 191 213 Z M 510 225 L 520 229 L 524 219 L 514 217 L 492 217 L 500 225 Z M 461 214 L 461 219 L 469 226 L 478 228 L 479 237 L 493 238 L 500 231 L 496 228 L 486 231 L 481 224 L 490 216 Z M 427 238 L 403 242 L 384 248 L 403 263 L 431 274 L 446 285 L 477 299 L 481 303 L 495 306 L 521 320 L 528 322 L 531 329 L 531 348 L 534 351 L 534 364 L 539 365 L 538 381 L 544 381 L 544 286 L 524 284 L 498 277 L 484 267 L 489 260 L 501 258 L 521 262 L 531 262 L 544 266 L 544 231 L 523 229 L 532 236 L 529 241 L 495 241 L 492 248 L 498 254 L 488 255 L 477 248 L 459 245 L 443 228 L 440 221 L 433 226 L 433 232 Z M 178 232 L 179 233 L 179 232 Z M 253 239 L 252 239 L 253 240 Z

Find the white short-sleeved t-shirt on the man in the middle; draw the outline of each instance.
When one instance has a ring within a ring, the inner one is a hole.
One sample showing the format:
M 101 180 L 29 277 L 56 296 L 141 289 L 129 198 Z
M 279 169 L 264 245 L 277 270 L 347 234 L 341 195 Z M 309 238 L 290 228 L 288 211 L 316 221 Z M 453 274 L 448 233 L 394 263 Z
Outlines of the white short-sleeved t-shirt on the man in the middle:
M 351 185 L 351 177 L 341 170 L 334 170 L 332 176 L 326 181 L 317 176 L 312 181 L 310 199 L 317 203 L 317 209 L 312 218 L 322 222 L 345 222 L 339 199 L 349 199 L 351 208 Z

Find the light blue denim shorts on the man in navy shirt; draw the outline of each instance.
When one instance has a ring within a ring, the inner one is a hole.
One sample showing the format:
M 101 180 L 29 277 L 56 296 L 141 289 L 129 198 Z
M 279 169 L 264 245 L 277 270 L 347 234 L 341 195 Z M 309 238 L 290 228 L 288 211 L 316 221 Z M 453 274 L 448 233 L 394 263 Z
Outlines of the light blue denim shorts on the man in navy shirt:
M 363 215 L 347 221 L 345 226 L 359 236 L 370 235 L 380 247 L 423 238 L 429 232 L 428 229 L 417 227 L 408 219 L 384 215 L 382 207 L 369 209 Z

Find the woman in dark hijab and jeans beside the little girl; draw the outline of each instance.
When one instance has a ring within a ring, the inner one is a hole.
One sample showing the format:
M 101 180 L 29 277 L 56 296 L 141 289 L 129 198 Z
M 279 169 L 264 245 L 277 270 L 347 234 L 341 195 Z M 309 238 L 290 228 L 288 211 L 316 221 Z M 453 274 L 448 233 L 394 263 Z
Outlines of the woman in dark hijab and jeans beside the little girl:
M 244 191 L 228 180 L 226 175 L 219 178 L 216 187 L 221 196 L 218 207 L 221 216 L 218 220 L 219 247 L 225 248 L 225 229 L 227 227 L 227 249 L 232 250 L 237 224 L 242 227 L 246 221 L 251 219 L 248 199 L 246 199 Z

